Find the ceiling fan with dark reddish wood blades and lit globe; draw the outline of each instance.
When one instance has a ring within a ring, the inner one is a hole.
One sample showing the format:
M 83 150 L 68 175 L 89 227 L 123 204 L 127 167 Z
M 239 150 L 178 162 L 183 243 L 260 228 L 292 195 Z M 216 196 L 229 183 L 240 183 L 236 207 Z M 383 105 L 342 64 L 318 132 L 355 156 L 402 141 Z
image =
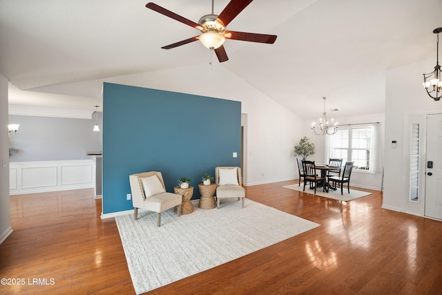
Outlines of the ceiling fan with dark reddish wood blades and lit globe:
M 253 0 L 231 0 L 229 4 L 222 10 L 220 15 L 213 14 L 213 0 L 212 0 L 212 13 L 211 15 L 204 15 L 200 18 L 198 23 L 195 23 L 185 17 L 177 15 L 166 8 L 162 8 L 155 3 L 149 2 L 146 4 L 146 8 L 155 10 L 156 12 L 180 21 L 187 26 L 191 26 L 202 32 L 201 35 L 185 39 L 174 44 L 163 46 L 163 49 L 171 49 L 177 46 L 182 46 L 184 44 L 191 43 L 193 41 L 200 40 L 201 43 L 211 50 L 215 50 L 216 56 L 220 62 L 227 61 L 226 50 L 224 49 L 224 41 L 226 39 L 240 40 L 240 41 L 250 41 L 258 43 L 273 44 L 276 40 L 276 35 L 265 35 L 256 34 L 252 32 L 235 32 L 226 30 L 226 26 L 240 14 L 246 6 L 248 6 Z

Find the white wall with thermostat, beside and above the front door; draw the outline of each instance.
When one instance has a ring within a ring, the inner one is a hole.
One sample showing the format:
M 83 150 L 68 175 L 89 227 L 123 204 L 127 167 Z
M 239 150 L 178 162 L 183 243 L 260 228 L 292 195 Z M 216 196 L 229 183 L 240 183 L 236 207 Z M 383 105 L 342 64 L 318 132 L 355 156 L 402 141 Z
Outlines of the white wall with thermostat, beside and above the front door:
M 408 184 L 403 171 L 405 115 L 442 113 L 442 101 L 434 102 L 422 86 L 423 73 L 434 69 L 435 61 L 427 60 L 387 71 L 385 93 L 385 178 L 383 208 L 406 211 Z M 397 140 L 397 149 L 392 149 Z

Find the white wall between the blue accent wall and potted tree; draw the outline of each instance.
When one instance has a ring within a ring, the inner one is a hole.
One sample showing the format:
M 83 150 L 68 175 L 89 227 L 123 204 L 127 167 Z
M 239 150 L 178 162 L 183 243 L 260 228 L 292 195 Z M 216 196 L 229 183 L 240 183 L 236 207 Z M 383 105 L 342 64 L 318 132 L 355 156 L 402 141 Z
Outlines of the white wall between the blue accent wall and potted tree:
M 298 178 L 294 146 L 304 122 L 260 93 L 244 97 L 242 110 L 248 114 L 246 184 Z

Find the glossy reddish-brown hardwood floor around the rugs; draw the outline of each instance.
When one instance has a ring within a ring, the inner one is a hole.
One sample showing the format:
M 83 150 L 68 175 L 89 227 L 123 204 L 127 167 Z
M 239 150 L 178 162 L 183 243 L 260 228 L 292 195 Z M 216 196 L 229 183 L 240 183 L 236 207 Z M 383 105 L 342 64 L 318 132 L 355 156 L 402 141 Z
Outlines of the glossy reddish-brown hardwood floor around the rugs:
M 442 222 L 282 188 L 251 200 L 321 226 L 148 294 L 442 294 Z M 92 190 L 12 196 L 1 294 L 135 294 L 115 220 Z M 35 280 L 37 279 L 37 280 Z

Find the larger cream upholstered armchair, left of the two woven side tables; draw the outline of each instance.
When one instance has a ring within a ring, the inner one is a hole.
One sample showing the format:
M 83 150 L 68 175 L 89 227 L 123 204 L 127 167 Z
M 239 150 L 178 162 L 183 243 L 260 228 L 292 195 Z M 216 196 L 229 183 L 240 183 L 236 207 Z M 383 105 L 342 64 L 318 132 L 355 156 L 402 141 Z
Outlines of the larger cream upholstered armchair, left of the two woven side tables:
M 129 175 L 132 191 L 134 218 L 137 220 L 138 208 L 157 212 L 157 227 L 161 225 L 161 212 L 177 208 L 181 215 L 182 196 L 166 192 L 161 172 L 151 171 Z

